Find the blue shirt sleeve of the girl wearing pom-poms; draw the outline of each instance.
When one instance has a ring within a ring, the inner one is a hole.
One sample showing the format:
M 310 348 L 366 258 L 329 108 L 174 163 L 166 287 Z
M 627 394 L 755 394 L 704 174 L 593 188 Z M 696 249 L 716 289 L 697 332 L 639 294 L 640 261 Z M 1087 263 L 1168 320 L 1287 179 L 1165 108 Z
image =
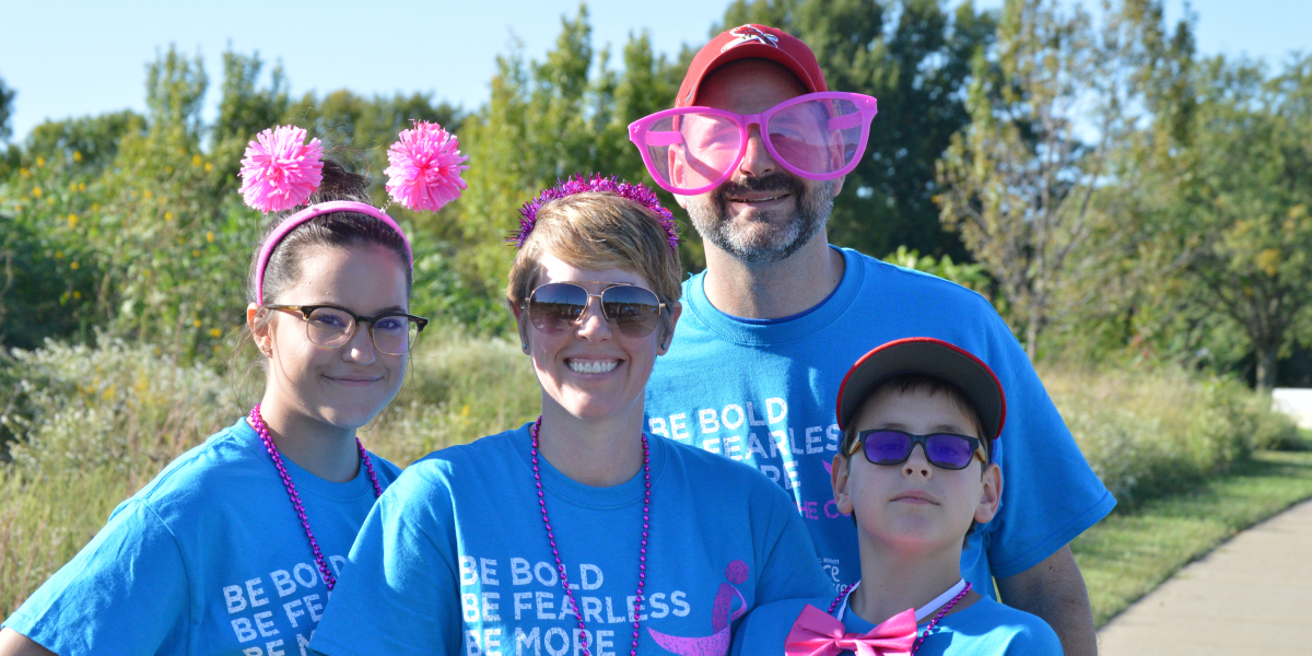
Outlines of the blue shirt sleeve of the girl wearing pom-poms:
M 173 534 L 133 500 L 4 627 L 60 656 L 184 651 L 189 588 Z

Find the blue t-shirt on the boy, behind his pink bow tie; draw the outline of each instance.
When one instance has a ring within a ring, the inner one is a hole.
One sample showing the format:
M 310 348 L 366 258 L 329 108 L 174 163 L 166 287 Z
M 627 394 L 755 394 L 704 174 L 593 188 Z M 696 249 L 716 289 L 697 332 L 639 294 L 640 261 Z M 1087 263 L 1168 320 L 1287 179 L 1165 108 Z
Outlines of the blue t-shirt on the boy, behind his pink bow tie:
M 743 656 L 779 656 L 783 642 L 807 604 L 825 610 L 833 597 L 787 600 L 761 606 L 748 614 L 733 635 L 733 653 Z M 929 621 L 916 627 L 922 634 Z M 865 634 L 875 627 L 851 609 L 842 614 L 850 634 Z M 842 652 L 850 655 L 851 652 Z M 943 615 L 925 636 L 916 656 L 1061 656 L 1061 642 L 1047 622 L 1023 610 L 1004 606 L 983 597 L 970 607 Z

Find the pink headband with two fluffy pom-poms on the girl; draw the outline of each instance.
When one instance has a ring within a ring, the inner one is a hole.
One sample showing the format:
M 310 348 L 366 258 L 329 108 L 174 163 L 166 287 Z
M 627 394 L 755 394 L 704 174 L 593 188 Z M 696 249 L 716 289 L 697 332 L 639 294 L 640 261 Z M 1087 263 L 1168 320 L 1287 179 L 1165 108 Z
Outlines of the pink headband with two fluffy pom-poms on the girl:
M 319 139 L 303 143 L 306 131 L 297 126 L 278 126 L 260 133 L 247 144 L 241 160 L 240 193 L 245 203 L 265 214 L 282 211 L 306 201 L 323 182 L 323 146 Z M 461 165 L 468 157 L 461 154 L 459 140 L 437 123 L 416 122 L 387 151 L 391 167 L 387 194 L 411 210 L 437 211 L 461 197 L 464 181 Z M 278 224 L 260 247 L 256 261 L 256 302 L 264 304 L 264 269 L 278 243 L 302 223 L 335 211 L 354 211 L 374 216 L 400 235 L 405 244 L 407 265 L 413 270 L 415 256 L 409 239 L 386 213 L 367 203 L 332 201 L 311 205 Z

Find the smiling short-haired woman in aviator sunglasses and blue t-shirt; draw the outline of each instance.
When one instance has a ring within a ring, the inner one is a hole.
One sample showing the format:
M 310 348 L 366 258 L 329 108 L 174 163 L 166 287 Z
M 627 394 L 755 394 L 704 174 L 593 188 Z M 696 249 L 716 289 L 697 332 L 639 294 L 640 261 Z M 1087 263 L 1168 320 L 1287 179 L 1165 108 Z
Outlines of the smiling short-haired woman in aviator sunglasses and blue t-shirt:
M 745 610 L 830 590 L 778 485 L 643 434 L 680 314 L 669 213 L 600 177 L 521 213 L 506 295 L 542 416 L 411 466 L 365 521 L 311 647 L 722 656 Z

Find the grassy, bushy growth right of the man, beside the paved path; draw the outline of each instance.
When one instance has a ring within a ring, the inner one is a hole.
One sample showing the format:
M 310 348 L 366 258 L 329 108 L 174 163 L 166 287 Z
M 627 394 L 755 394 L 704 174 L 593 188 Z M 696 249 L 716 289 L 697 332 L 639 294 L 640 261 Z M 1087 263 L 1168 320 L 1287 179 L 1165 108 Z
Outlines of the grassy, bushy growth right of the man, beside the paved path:
M 1224 472 L 1296 436 L 1265 395 L 1181 369 L 1088 371 L 1044 367 L 1048 394 L 1093 471 L 1122 510 Z

